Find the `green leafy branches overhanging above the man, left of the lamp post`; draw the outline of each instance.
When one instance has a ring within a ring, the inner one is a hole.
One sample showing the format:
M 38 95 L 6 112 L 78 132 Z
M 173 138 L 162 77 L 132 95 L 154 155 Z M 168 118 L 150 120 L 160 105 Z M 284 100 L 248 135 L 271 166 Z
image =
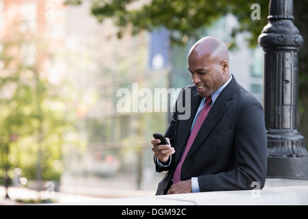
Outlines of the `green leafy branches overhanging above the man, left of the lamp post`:
M 166 27 L 174 34 L 171 36 L 174 42 L 181 43 L 183 37 L 200 38 L 200 29 L 209 27 L 217 18 L 226 14 L 234 14 L 241 25 L 237 31 L 249 31 L 252 34 L 260 34 L 267 22 L 268 0 L 154 0 L 147 1 L 141 7 L 136 0 L 95 0 L 91 6 L 91 14 L 97 21 L 102 22 L 106 18 L 112 18 L 119 27 L 118 36 L 121 37 L 126 29 L 132 34 L 157 27 Z M 67 0 L 67 4 L 76 5 L 82 1 Z M 261 21 L 252 22 L 251 5 L 258 3 L 261 6 Z M 252 41 L 253 42 L 253 41 Z M 253 42 L 255 45 L 256 42 Z

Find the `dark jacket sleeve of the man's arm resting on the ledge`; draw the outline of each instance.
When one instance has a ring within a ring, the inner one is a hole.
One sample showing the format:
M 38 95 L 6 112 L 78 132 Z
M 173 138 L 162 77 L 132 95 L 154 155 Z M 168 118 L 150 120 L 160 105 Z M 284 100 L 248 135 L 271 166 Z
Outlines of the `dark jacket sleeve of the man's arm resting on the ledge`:
M 261 103 L 249 101 L 235 127 L 235 168 L 198 177 L 201 192 L 263 188 L 267 170 L 268 138 Z

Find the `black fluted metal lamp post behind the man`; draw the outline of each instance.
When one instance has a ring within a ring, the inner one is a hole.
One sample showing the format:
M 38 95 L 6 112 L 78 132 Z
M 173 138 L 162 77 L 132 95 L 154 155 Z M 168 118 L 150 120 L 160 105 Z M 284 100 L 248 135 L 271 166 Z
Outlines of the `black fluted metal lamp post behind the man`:
M 268 177 L 308 179 L 305 138 L 297 131 L 298 51 L 303 37 L 293 23 L 293 0 L 271 0 L 268 20 L 259 36 L 264 51 Z

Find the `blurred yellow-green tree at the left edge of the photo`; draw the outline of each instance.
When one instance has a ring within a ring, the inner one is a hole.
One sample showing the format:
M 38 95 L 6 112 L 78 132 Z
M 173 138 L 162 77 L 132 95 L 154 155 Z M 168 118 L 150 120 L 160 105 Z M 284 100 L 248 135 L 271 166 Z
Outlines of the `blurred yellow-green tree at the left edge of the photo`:
M 29 64 L 21 57 L 21 48 L 29 45 L 40 54 L 46 49 L 43 42 L 15 36 L 0 45 L 1 169 L 10 166 L 11 178 L 12 170 L 21 168 L 28 180 L 59 181 L 64 136 L 75 132 L 69 96 L 49 82 L 37 62 Z

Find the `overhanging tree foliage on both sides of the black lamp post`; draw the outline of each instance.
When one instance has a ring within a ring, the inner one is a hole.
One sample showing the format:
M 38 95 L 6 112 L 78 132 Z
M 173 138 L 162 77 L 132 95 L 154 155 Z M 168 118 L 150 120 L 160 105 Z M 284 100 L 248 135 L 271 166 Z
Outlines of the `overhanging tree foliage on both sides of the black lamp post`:
M 144 2 L 141 4 L 137 4 Z M 78 5 L 82 0 L 67 0 L 67 4 Z M 254 3 L 260 5 L 260 20 L 252 20 L 251 14 Z M 179 44 L 187 42 L 188 38 L 202 37 L 202 29 L 209 27 L 217 18 L 233 14 L 239 21 L 239 26 L 233 29 L 233 38 L 239 32 L 248 32 L 247 39 L 251 47 L 256 47 L 258 37 L 263 27 L 268 23 L 268 0 L 93 0 L 91 14 L 102 22 L 111 18 L 119 27 L 118 36 L 121 38 L 127 30 L 132 34 L 140 31 L 152 31 L 157 27 L 166 27 L 171 31 L 171 41 Z M 308 140 L 308 0 L 294 0 L 294 23 L 300 29 L 305 40 L 304 47 L 299 53 L 299 112 L 298 129 Z M 186 40 L 185 40 L 186 39 Z M 234 46 L 230 42 L 230 46 Z

